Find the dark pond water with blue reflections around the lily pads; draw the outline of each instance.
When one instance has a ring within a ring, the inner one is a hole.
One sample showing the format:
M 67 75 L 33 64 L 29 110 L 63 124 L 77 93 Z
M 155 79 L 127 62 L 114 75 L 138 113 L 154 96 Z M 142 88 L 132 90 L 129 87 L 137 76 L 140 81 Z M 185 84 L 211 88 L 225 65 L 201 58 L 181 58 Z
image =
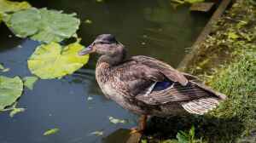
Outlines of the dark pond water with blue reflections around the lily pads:
M 37 8 L 76 12 L 81 20 L 79 37 L 88 45 L 98 34 L 112 33 L 125 44 L 130 54 L 144 54 L 164 60 L 172 66 L 183 59 L 205 26 L 208 16 L 190 14 L 188 7 L 173 9 L 169 0 L 31 0 Z M 86 24 L 84 20 L 91 20 Z M 31 76 L 26 60 L 38 42 L 12 35 L 3 23 L 0 26 L 0 63 L 10 71 L 3 75 Z M 20 46 L 22 48 L 20 48 Z M 73 75 L 55 80 L 38 80 L 33 90 L 25 89 L 19 107 L 26 111 L 9 117 L 0 114 L 1 143 L 121 143 L 125 130 L 136 126 L 137 116 L 106 99 L 96 84 L 97 56 Z M 2 73 L 1 73 L 2 74 Z M 91 97 L 92 100 L 88 100 Z M 108 117 L 127 120 L 113 124 Z M 60 132 L 44 136 L 47 129 Z M 102 130 L 103 136 L 91 135 Z

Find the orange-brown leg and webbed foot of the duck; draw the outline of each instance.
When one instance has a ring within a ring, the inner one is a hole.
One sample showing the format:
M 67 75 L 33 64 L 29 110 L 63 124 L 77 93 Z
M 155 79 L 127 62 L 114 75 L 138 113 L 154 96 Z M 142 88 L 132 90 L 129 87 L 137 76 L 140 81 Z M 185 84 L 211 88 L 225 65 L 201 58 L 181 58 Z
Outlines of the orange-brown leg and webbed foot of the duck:
M 139 118 L 138 127 L 131 128 L 130 134 L 143 134 L 143 132 L 146 129 L 146 126 L 147 126 L 147 119 L 148 119 L 147 115 L 142 115 Z

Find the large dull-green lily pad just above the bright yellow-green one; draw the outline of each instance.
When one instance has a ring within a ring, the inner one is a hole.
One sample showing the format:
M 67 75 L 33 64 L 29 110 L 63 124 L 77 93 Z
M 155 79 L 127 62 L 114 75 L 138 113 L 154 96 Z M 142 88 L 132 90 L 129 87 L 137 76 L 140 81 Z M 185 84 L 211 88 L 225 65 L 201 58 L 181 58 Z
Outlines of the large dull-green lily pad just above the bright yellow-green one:
M 32 8 L 12 14 L 7 23 L 17 37 L 31 37 L 45 43 L 61 42 L 79 29 L 80 20 L 75 15 Z

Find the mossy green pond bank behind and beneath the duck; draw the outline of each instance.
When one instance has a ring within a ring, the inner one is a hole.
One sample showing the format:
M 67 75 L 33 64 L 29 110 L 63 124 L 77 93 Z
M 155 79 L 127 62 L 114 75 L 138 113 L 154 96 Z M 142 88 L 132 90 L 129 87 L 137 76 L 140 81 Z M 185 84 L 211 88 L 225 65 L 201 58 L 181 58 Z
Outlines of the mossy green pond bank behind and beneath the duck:
M 256 141 L 256 5 L 237 0 L 224 14 L 184 68 L 228 96 L 218 108 L 200 117 L 154 117 L 148 142 L 177 142 L 179 130 L 195 126 L 197 139 L 207 143 Z M 168 128 L 166 128 L 168 127 Z M 154 140 L 152 140 L 154 139 Z M 199 141 L 200 142 L 200 141 Z

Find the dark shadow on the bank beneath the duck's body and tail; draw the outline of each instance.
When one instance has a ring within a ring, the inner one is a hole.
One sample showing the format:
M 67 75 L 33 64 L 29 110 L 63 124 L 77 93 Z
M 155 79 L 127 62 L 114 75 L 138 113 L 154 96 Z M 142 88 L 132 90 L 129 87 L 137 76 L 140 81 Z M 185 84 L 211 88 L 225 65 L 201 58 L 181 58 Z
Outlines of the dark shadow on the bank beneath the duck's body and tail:
M 176 139 L 178 131 L 188 131 L 193 125 L 196 137 L 199 139 L 202 137 L 209 143 L 235 142 L 245 129 L 238 117 L 218 118 L 209 115 L 152 117 L 145 135 L 159 140 Z

